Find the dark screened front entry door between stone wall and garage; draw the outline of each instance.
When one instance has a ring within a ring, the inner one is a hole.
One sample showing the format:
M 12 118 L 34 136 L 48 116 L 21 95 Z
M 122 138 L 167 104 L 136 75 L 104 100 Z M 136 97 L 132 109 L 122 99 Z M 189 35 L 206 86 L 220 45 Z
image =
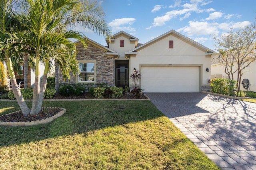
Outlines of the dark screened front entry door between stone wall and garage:
M 129 86 L 129 60 L 116 60 L 115 86 Z

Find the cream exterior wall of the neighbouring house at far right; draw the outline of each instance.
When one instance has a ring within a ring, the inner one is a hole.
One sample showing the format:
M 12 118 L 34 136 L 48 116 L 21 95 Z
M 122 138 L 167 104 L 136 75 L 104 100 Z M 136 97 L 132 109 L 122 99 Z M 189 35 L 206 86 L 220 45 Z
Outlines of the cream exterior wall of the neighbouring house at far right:
M 250 81 L 250 91 L 256 92 L 256 62 L 251 63 L 243 71 L 241 81 L 248 79 Z M 226 78 L 228 75 L 225 73 L 225 67 L 222 64 L 214 64 L 211 66 L 211 75 L 222 74 L 222 78 Z M 234 74 L 234 80 L 237 80 L 237 74 Z M 241 82 L 242 83 L 242 82 Z M 245 90 L 241 84 L 240 90 Z

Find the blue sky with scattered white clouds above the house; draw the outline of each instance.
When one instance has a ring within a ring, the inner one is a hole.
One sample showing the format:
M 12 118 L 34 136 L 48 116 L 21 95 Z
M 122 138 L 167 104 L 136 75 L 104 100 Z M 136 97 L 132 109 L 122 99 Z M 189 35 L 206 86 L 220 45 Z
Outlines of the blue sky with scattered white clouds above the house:
M 230 28 L 239 29 L 255 22 L 256 0 L 102 0 L 112 34 L 124 31 L 146 43 L 170 30 L 215 49 L 212 36 Z M 106 45 L 105 38 L 90 31 L 88 38 Z

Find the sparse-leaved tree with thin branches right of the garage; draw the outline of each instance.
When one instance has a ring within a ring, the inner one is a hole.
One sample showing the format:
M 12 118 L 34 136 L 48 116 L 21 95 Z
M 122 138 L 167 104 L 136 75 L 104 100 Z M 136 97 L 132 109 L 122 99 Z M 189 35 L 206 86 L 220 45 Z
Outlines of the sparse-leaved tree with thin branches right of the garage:
M 240 91 L 244 69 L 256 61 L 256 26 L 251 24 L 237 32 L 231 29 L 227 35 L 216 36 L 214 39 L 225 73 L 232 80 L 235 79 L 234 73 L 237 74 L 237 87 Z

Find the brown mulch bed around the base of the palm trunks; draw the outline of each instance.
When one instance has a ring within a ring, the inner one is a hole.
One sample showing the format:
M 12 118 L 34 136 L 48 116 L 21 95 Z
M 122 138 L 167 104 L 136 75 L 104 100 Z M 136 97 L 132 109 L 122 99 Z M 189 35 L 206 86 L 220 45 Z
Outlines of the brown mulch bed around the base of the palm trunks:
M 31 122 L 31 121 L 40 121 L 42 119 L 50 118 L 62 111 L 59 108 L 42 108 L 37 115 L 23 115 L 21 111 L 14 112 L 10 115 L 0 116 L 1 122 Z

